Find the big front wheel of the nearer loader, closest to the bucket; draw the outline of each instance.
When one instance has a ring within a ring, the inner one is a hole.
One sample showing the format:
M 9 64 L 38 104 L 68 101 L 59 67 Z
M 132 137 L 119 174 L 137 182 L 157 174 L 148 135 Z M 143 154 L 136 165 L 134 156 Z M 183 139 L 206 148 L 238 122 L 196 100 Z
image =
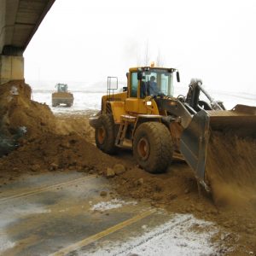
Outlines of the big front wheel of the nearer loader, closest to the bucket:
M 158 122 L 139 125 L 135 131 L 133 154 L 145 171 L 166 172 L 173 154 L 172 137 L 166 125 Z

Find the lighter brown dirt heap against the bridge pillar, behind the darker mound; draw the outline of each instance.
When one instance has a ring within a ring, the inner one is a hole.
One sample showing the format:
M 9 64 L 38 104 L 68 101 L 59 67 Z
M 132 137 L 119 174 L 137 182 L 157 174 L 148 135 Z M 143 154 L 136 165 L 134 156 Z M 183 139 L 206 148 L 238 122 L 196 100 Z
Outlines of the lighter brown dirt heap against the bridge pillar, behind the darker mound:
M 45 134 L 68 135 L 71 132 L 91 137 L 92 128 L 83 117 L 61 116 L 56 118 L 46 104 L 31 100 L 31 88 L 23 80 L 11 81 L 0 87 L 0 131 L 5 137 L 17 134 L 20 127 L 26 129 L 25 139 Z

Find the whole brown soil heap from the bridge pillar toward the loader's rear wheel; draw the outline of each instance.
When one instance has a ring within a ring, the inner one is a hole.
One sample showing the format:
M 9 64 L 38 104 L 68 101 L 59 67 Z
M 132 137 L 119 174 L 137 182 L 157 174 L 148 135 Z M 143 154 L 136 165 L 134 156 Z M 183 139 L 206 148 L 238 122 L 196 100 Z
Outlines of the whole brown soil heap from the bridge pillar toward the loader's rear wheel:
M 24 81 L 1 85 L 0 114 L 0 130 L 6 137 L 19 127 L 27 131 L 18 140 L 19 148 L 0 160 L 2 181 L 14 173 L 47 170 L 102 172 L 119 162 L 88 142 L 92 137 L 88 119 L 55 117 L 47 105 L 31 100 L 31 88 Z

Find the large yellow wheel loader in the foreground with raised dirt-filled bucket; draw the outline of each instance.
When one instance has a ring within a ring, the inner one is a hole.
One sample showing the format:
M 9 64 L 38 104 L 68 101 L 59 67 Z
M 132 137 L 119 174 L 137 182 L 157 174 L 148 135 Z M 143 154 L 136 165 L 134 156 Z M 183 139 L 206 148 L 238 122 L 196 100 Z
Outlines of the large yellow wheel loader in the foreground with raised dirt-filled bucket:
M 95 128 L 96 146 L 107 154 L 131 148 L 139 166 L 147 172 L 165 172 L 174 153 L 206 181 L 207 147 L 212 131 L 236 132 L 247 126 L 247 135 L 256 137 L 256 108 L 236 105 L 226 110 L 202 87 L 191 80 L 187 96 L 173 96 L 175 68 L 132 67 L 127 87 L 114 93 L 118 79 L 108 77 L 108 94 L 102 96 L 102 110 L 90 118 Z M 200 100 L 200 94 L 207 100 Z M 239 129 L 238 129 L 239 130 Z

